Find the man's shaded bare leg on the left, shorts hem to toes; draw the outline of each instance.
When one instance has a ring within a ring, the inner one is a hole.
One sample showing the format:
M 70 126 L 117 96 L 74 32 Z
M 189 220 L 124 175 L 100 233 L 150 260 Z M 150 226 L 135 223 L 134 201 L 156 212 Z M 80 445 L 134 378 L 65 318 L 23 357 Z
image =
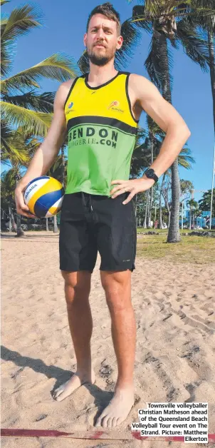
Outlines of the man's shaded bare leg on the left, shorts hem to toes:
M 78 273 L 62 271 L 62 275 L 65 280 L 65 300 L 77 370 L 75 375 L 53 394 L 53 398 L 59 402 L 85 382 L 95 382 L 90 352 L 90 338 L 93 331 L 89 303 L 91 274 L 88 271 Z

